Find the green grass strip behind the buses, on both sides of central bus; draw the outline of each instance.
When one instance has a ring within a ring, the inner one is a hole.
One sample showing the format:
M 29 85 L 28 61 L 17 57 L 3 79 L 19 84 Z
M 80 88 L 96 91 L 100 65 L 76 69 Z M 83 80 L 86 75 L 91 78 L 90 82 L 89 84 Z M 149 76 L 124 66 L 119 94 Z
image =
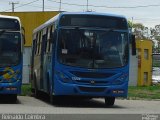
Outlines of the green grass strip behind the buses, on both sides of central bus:
M 22 96 L 31 96 L 31 85 L 22 85 Z M 160 99 L 160 85 L 157 86 L 143 86 L 143 87 L 129 87 L 128 99 L 138 100 L 147 99 L 155 100 Z

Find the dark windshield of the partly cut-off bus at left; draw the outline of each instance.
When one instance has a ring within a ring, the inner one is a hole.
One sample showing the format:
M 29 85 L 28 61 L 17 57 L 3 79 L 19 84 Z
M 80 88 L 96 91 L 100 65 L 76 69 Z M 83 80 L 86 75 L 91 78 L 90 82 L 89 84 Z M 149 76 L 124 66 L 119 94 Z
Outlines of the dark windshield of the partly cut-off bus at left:
M 20 62 L 20 33 L 3 32 L 0 34 L 0 67 L 17 65 Z

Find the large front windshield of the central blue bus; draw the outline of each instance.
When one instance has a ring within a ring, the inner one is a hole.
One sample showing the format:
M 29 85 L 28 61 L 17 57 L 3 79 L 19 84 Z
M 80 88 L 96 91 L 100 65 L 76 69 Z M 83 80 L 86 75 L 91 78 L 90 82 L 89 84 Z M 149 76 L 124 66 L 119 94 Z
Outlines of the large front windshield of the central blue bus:
M 84 68 L 115 68 L 128 62 L 127 32 L 104 29 L 61 29 L 60 63 Z

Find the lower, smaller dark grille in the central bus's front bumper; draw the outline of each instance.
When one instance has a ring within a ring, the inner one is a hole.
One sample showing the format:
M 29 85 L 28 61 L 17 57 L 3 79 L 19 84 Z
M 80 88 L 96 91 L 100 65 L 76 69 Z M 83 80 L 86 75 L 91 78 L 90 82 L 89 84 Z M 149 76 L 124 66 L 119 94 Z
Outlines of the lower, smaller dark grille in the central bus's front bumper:
M 103 92 L 105 88 L 98 88 L 98 87 L 82 87 L 79 86 L 79 89 L 83 92 Z

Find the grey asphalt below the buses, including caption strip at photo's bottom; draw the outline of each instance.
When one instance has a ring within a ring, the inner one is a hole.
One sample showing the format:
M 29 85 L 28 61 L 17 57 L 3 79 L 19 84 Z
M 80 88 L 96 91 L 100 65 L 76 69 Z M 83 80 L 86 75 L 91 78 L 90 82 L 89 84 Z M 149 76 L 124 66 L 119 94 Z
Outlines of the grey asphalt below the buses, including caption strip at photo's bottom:
M 15 104 L 1 101 L 0 120 L 13 120 L 15 115 L 22 120 L 160 120 L 160 100 L 116 99 L 113 107 L 105 107 L 103 99 L 63 99 L 58 104 L 43 99 L 18 96 Z

